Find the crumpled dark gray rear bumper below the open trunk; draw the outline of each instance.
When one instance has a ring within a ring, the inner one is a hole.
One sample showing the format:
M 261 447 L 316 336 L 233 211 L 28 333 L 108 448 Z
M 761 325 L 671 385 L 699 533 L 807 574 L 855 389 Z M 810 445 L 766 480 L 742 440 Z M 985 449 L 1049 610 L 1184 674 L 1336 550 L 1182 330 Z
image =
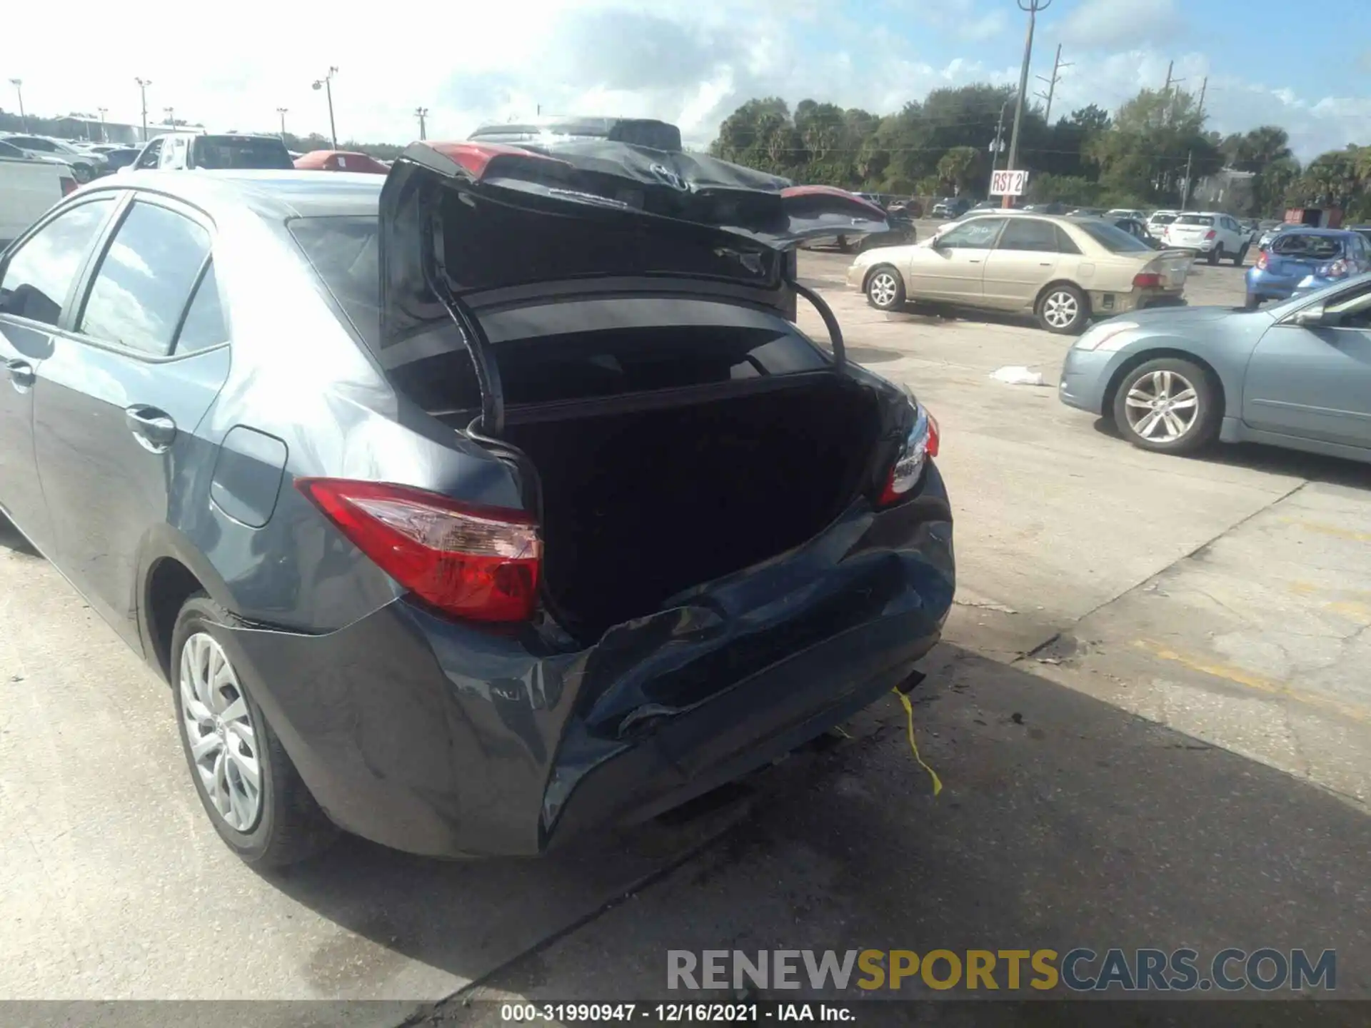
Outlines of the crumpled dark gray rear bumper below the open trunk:
M 858 504 L 591 647 L 404 600 L 321 636 L 223 635 L 339 825 L 428 855 L 537 854 L 691 799 L 866 706 L 938 641 L 953 591 L 930 465 L 917 498 Z

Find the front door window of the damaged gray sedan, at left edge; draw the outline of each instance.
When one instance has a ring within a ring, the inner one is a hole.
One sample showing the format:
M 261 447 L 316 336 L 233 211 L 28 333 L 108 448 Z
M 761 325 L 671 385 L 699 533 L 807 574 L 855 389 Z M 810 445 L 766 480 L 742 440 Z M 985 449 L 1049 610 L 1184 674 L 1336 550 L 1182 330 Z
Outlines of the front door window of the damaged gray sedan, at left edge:
M 114 197 L 82 203 L 25 240 L 0 280 L 0 313 L 56 325 L 62 304 L 112 207 Z

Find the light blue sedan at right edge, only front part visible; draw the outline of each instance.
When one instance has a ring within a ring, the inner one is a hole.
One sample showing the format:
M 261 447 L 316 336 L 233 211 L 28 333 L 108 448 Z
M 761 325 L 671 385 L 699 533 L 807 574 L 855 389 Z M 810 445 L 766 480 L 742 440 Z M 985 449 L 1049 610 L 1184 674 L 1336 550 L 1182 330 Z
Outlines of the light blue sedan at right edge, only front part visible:
M 1371 462 L 1371 274 L 1263 310 L 1150 310 L 1067 352 L 1058 397 L 1167 454 L 1267 443 Z

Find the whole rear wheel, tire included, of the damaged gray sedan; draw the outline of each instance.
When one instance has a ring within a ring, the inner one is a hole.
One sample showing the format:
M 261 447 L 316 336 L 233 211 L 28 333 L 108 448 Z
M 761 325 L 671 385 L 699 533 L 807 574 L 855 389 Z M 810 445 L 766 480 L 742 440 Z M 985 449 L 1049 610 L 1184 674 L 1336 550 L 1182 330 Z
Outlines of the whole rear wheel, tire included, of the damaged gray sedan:
M 223 646 L 223 625 L 230 621 L 204 593 L 191 596 L 177 615 L 170 677 L 181 747 L 200 803 L 230 850 L 259 868 L 299 864 L 322 853 L 339 829 L 319 810 L 262 709 L 243 687 L 229 657 L 232 648 Z M 213 678 L 208 668 L 219 669 Z M 208 750 L 204 743 L 210 743 Z

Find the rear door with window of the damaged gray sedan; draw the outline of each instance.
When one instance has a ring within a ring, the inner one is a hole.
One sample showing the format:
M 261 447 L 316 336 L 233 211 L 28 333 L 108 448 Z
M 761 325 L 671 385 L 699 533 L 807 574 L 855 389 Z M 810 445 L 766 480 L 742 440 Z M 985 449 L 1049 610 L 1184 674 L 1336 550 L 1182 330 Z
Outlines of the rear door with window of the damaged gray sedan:
M 140 547 L 171 476 L 203 473 L 193 430 L 228 374 L 228 329 L 197 211 L 137 193 L 53 336 L 34 387 L 53 559 L 134 647 Z

